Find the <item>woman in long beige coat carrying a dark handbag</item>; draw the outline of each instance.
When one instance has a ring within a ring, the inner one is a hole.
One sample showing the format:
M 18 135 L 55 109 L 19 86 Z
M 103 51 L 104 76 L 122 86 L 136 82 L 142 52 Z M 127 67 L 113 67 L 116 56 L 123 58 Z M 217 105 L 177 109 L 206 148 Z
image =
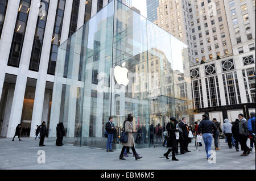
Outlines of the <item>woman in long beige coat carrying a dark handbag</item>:
M 121 142 L 121 145 L 123 145 L 121 154 L 119 155 L 119 159 L 125 160 L 125 158 L 123 158 L 123 153 L 125 152 L 125 149 L 127 147 L 131 147 L 131 150 L 133 151 L 133 154 L 135 156 L 135 159 L 141 159 L 142 157 L 140 157 L 135 150 L 135 143 L 134 143 L 134 138 L 133 138 L 133 133 L 136 133 L 136 130 L 133 130 L 133 125 L 131 125 L 131 121 L 133 121 L 133 114 L 129 113 L 126 120 L 125 120 L 125 132 L 127 132 L 127 136 L 128 136 L 128 141 L 126 143 Z

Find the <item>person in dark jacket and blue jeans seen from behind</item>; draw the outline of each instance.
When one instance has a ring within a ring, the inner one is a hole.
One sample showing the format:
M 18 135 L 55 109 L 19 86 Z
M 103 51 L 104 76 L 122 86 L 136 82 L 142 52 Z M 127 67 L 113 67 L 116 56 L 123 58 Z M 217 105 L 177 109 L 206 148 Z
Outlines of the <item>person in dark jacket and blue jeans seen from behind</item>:
M 213 121 L 209 120 L 209 116 L 207 114 L 204 114 L 198 126 L 198 131 L 199 133 L 201 133 L 200 134 L 201 136 L 203 135 L 205 151 L 207 153 L 207 159 L 209 159 L 210 150 L 212 149 L 212 136 L 213 136 L 212 128 L 214 132 L 217 130 L 217 127 L 213 123 Z

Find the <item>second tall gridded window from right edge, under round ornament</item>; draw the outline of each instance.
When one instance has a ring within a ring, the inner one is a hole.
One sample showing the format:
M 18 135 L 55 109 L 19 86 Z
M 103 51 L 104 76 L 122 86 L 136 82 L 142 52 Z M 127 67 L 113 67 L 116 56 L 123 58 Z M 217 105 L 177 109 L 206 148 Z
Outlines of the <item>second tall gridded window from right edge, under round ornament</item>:
M 222 79 L 224 83 L 226 104 L 241 104 L 240 90 L 238 87 L 236 71 L 222 74 Z

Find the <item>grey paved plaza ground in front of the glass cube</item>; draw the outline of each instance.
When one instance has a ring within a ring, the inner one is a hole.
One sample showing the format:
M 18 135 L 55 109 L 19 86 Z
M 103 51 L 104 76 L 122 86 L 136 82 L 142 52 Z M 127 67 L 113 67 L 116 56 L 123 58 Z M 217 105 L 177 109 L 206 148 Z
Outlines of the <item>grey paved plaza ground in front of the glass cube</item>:
M 189 144 L 191 153 L 177 155 L 179 161 L 171 161 L 163 157 L 167 148 L 143 148 L 137 149 L 142 159 L 135 161 L 133 154 L 125 157 L 126 161 L 119 159 L 121 150 L 107 153 L 104 149 L 92 149 L 84 146 L 55 146 L 55 142 L 47 142 L 46 146 L 39 147 L 39 140 L 22 138 L 22 141 L 11 141 L 11 138 L 0 138 L 0 169 L 241 169 L 255 170 L 255 150 L 247 157 L 241 157 L 242 151 L 229 149 L 225 140 L 221 140 L 221 150 L 216 151 L 216 164 L 210 164 L 206 159 L 204 145 L 200 151 L 195 150 L 195 139 Z M 247 142 L 249 145 L 249 141 Z M 214 148 L 214 144 L 212 145 Z M 240 148 L 241 149 L 241 148 Z M 38 163 L 38 150 L 46 153 L 46 163 Z M 180 150 L 179 150 L 180 151 Z

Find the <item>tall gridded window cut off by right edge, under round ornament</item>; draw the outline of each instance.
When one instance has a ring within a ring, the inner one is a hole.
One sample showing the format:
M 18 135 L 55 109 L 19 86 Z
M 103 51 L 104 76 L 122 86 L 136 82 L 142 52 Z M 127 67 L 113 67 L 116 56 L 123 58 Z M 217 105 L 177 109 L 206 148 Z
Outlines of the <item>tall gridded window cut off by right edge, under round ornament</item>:
M 255 70 L 254 68 L 242 70 L 242 75 L 243 83 L 245 84 L 247 102 L 255 103 Z

